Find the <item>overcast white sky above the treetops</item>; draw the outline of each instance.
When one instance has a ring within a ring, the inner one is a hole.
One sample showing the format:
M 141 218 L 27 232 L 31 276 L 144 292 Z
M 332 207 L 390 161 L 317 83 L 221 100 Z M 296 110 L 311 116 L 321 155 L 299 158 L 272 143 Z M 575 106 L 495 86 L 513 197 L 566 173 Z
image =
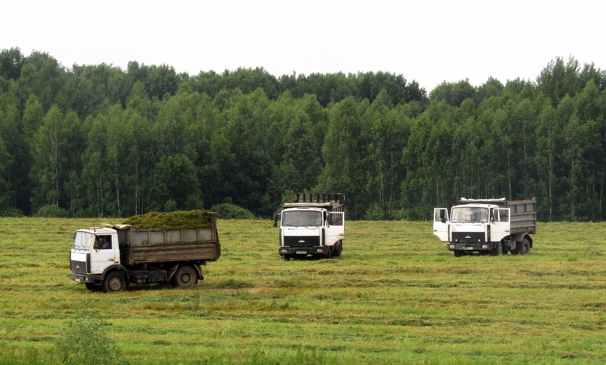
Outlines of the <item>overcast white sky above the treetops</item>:
M 65 67 L 382 70 L 427 92 L 466 78 L 535 81 L 557 56 L 606 69 L 606 1 L 0 1 L 0 49 Z

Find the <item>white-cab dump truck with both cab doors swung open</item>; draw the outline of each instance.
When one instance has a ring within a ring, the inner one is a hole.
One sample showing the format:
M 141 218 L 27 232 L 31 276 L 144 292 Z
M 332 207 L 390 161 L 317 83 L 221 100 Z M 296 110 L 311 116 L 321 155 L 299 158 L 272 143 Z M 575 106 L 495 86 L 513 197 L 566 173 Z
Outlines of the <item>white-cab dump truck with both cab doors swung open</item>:
M 450 209 L 435 208 L 433 234 L 454 256 L 471 252 L 528 255 L 536 233 L 536 200 L 465 199 Z

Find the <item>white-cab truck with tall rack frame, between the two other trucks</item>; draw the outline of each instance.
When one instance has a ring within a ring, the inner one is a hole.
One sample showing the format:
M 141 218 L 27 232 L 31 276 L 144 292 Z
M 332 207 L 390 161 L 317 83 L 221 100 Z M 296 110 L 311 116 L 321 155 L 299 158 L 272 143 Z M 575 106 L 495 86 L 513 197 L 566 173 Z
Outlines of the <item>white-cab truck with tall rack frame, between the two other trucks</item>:
M 341 256 L 345 234 L 345 194 L 296 193 L 292 203 L 285 203 L 275 216 L 280 247 L 286 261 L 311 255 L 331 258 Z

